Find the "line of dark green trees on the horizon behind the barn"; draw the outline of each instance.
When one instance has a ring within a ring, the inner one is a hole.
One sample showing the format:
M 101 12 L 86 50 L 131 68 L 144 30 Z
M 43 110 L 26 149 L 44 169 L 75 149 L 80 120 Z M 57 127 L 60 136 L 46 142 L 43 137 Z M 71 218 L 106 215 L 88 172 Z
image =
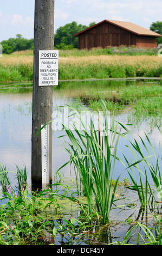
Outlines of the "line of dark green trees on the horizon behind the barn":
M 73 35 L 93 25 L 95 25 L 95 22 L 91 22 L 89 26 L 86 26 L 81 24 L 77 25 L 77 22 L 73 21 L 58 28 L 54 34 L 55 49 L 70 50 L 79 48 L 79 38 Z M 162 21 L 153 22 L 150 26 L 150 30 L 162 35 Z M 157 39 L 157 42 L 158 44 L 162 43 L 162 36 Z M 7 54 L 15 51 L 33 50 L 34 39 L 25 39 L 21 34 L 17 34 L 16 38 L 3 40 L 1 45 L 3 47 L 3 53 Z

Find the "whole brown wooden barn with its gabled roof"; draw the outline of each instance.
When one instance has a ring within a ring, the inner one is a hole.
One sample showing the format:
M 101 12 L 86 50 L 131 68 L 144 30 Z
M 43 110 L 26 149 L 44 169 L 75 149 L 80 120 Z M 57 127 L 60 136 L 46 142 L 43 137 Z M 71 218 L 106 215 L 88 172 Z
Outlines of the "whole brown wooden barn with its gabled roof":
M 74 36 L 79 36 L 79 49 L 106 46 L 157 47 L 161 35 L 126 21 L 104 20 Z

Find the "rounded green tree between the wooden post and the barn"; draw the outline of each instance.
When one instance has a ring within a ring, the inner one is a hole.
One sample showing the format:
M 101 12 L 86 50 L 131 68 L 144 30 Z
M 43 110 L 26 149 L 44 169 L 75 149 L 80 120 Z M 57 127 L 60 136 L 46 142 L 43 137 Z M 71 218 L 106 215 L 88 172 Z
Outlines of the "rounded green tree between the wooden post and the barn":
M 95 22 L 90 23 L 90 26 L 95 24 Z M 73 21 L 72 23 L 67 23 L 63 27 L 60 27 L 56 30 L 56 34 L 54 35 L 54 42 L 55 46 L 59 47 L 60 44 L 64 45 L 72 45 L 74 48 L 79 47 L 79 40 L 77 37 L 74 37 L 73 35 L 76 33 L 79 33 L 83 29 L 88 28 L 85 25 L 77 25 L 76 21 Z

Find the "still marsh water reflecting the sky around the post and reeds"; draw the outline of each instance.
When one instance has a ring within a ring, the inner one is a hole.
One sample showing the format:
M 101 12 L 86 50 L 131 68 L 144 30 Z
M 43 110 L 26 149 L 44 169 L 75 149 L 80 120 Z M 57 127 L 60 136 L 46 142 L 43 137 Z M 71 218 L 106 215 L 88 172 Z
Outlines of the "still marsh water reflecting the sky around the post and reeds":
M 131 86 L 137 84 L 150 84 L 149 81 L 138 81 L 138 80 L 114 80 L 114 81 L 67 81 L 60 82 L 59 86 L 54 87 L 53 90 L 53 112 L 58 109 L 59 106 L 72 105 L 77 106 L 79 102 L 79 96 L 83 92 L 91 92 L 98 90 L 106 91 L 107 88 L 116 90 L 116 88 L 122 86 Z M 152 81 L 156 83 L 156 81 Z M 7 167 L 7 170 L 16 172 L 16 166 L 22 168 L 27 167 L 28 172 L 28 184 L 31 183 L 31 109 L 32 109 L 32 84 L 1 84 L 0 86 L 0 162 L 3 166 Z M 115 115 L 115 120 L 119 120 L 122 124 L 129 123 L 131 114 L 129 107 L 126 106 L 124 111 L 119 112 Z M 153 145 L 155 152 L 158 153 L 159 142 L 161 141 L 161 135 L 158 128 L 155 125 L 150 124 L 149 118 L 147 120 L 141 120 L 137 123 L 138 126 L 132 126 L 132 133 L 135 138 L 138 139 L 138 135 L 142 138 L 145 137 L 144 131 L 149 135 L 150 141 Z M 144 131 L 142 131 L 142 129 Z M 57 138 L 64 134 L 64 131 L 53 130 L 53 176 L 57 169 L 59 169 L 63 163 L 69 160 L 69 156 L 64 150 L 66 142 L 62 139 Z M 144 138 L 145 139 L 145 138 Z M 127 142 L 124 139 L 119 141 L 119 157 L 122 155 L 122 151 L 125 153 L 125 144 Z M 129 153 L 128 153 L 129 154 Z M 130 155 L 131 157 L 131 155 Z M 161 167 L 161 163 L 160 163 Z M 116 164 L 114 173 L 114 179 L 118 177 L 121 171 L 118 163 Z M 61 170 L 64 178 L 74 177 L 74 174 L 70 173 L 69 166 L 64 167 Z M 128 174 L 124 172 L 121 175 L 121 180 L 127 178 Z M 10 182 L 14 185 L 16 180 L 13 173 L 9 173 Z M 128 197 L 133 192 L 126 192 Z M 135 214 L 138 215 L 136 212 Z M 132 212 L 127 212 L 127 216 L 132 215 Z M 123 225 L 118 229 L 118 215 L 116 215 L 116 224 L 114 224 L 114 232 L 116 237 L 124 237 L 127 231 L 127 225 Z M 126 218 L 124 214 L 124 218 Z M 92 232 L 93 233 L 93 232 Z M 99 230 L 95 233 L 99 235 Z M 108 230 L 104 233 L 108 237 Z M 100 234 L 101 235 L 101 234 Z M 102 234 L 103 235 L 103 234 Z M 93 235 L 94 236 L 94 235 Z M 98 237 L 91 237 L 91 240 L 98 240 Z M 106 243 L 109 241 L 106 239 Z M 100 240 L 101 241 L 101 240 Z M 103 240 L 102 240 L 103 241 Z M 86 242 L 85 242 L 86 243 Z

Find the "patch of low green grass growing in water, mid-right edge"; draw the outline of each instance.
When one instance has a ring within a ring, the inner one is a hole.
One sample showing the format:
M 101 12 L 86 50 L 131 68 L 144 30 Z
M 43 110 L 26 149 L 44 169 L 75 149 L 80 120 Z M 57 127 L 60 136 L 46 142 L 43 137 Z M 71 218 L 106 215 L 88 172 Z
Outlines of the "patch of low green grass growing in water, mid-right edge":
M 97 88 L 98 95 L 104 100 L 109 111 L 119 114 L 124 111 L 128 113 L 128 121 L 133 124 L 140 124 L 147 120 L 147 125 L 153 127 L 161 125 L 162 87 L 160 84 L 146 83 L 143 85 L 133 84 L 131 86 L 118 86 L 116 88 Z M 83 90 L 80 100 L 93 111 L 101 109 L 99 97 L 95 89 Z

